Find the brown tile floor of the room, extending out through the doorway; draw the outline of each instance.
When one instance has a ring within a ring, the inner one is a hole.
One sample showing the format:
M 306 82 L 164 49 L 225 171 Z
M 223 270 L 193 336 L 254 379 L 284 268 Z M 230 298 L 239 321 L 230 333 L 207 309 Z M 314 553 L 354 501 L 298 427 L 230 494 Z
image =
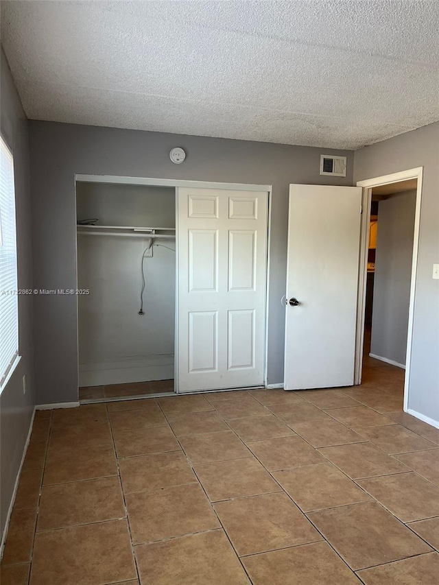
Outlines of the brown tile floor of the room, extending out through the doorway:
M 2 585 L 437 585 L 439 430 L 364 384 L 38 411 Z

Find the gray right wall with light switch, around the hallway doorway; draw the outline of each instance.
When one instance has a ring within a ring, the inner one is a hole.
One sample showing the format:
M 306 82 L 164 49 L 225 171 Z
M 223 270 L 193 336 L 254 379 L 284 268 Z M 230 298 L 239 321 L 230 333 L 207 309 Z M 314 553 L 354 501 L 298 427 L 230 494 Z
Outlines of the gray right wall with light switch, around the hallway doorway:
M 354 180 L 424 167 L 409 409 L 439 423 L 439 122 L 355 152 Z

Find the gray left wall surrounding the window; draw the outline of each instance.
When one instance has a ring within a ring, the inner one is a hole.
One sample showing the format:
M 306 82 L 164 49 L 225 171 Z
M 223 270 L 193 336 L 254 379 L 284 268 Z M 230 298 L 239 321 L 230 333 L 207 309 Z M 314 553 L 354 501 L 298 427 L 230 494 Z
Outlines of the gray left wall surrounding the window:
M 29 195 L 27 120 L 1 50 L 1 135 L 14 154 L 19 289 L 32 289 L 32 241 Z M 34 410 L 32 296 L 19 296 L 21 361 L 0 396 L 0 534 L 6 516 Z M 22 379 L 26 376 L 27 392 Z

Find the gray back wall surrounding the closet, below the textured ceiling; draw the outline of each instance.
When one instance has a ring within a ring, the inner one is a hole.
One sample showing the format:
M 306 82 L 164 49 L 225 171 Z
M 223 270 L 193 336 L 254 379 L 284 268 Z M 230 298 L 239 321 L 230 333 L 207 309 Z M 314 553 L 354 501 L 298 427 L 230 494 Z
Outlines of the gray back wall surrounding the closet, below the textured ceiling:
M 34 219 L 34 286 L 75 288 L 75 173 L 217 182 L 272 184 L 270 329 L 268 382 L 283 381 L 288 185 L 292 182 L 352 184 L 348 176 L 319 175 L 320 154 L 329 149 L 258 143 L 158 132 L 31 121 L 30 153 Z M 182 165 L 169 150 L 187 152 Z M 77 302 L 70 296 L 34 299 L 37 401 L 78 399 Z M 62 327 L 60 327 L 62 323 Z

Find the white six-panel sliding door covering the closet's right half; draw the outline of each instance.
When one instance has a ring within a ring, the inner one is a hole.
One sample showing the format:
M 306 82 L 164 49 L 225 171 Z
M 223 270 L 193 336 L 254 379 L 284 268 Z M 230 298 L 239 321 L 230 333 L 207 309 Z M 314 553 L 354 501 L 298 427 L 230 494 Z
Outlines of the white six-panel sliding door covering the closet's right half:
M 268 193 L 177 199 L 178 392 L 263 385 Z

